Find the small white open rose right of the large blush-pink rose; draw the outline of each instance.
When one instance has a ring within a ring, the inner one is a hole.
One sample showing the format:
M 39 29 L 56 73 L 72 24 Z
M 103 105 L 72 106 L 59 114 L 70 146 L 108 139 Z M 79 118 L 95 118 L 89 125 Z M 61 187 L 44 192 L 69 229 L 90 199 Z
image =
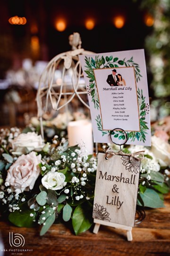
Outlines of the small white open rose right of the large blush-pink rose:
M 64 181 L 66 177 L 61 172 L 51 172 L 49 171 L 42 178 L 42 185 L 47 190 L 61 190 L 64 187 Z

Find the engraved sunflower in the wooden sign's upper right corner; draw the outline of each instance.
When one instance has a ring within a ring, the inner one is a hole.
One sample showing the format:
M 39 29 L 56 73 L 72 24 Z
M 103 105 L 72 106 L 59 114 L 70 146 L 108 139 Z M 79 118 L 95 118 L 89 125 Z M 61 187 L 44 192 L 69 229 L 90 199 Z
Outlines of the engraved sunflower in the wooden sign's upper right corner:
M 126 166 L 126 170 L 135 172 L 136 174 L 140 172 L 140 160 L 131 156 L 122 156 L 121 160 L 123 160 L 122 164 Z

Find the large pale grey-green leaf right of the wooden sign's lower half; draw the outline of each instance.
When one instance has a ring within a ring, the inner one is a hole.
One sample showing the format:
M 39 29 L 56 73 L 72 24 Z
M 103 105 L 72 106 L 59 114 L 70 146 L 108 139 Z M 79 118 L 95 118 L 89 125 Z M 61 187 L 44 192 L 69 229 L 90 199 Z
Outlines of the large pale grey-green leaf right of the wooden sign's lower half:
M 146 189 L 144 193 L 140 193 L 144 206 L 151 208 L 164 207 L 163 201 L 160 199 L 158 193 L 152 189 Z

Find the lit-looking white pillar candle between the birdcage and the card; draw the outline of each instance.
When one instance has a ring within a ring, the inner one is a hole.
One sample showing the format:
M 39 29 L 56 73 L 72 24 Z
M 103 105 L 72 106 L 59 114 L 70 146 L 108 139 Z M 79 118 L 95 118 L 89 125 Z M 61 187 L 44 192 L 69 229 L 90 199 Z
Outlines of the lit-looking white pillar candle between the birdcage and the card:
M 78 120 L 68 123 L 68 145 L 85 143 L 88 154 L 93 154 L 92 123 L 88 120 Z

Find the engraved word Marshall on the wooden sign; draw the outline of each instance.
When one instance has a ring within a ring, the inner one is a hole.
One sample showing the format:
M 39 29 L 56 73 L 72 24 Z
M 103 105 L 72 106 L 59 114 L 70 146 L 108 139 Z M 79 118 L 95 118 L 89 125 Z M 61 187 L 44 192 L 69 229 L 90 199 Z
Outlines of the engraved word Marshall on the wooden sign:
M 123 177 L 123 174 L 121 172 L 120 177 L 119 176 L 113 176 L 113 175 L 108 175 L 107 171 L 102 174 L 102 171 L 99 171 L 100 175 L 99 175 L 99 179 L 105 179 L 105 180 L 111 180 L 111 181 L 116 181 L 116 182 L 123 182 L 123 183 L 128 183 L 128 184 L 134 184 L 135 185 L 135 178 L 136 175 L 131 175 L 131 178 L 126 178 Z

